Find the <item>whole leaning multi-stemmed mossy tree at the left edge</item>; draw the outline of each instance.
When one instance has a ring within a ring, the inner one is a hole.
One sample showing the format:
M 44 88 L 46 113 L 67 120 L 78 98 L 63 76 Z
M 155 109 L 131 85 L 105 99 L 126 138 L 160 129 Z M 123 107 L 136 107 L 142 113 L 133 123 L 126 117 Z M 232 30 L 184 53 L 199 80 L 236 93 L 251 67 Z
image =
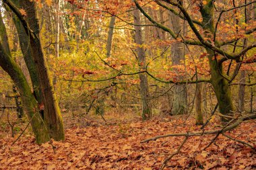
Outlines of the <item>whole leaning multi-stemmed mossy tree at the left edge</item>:
M 50 138 L 64 140 L 63 120 L 42 50 L 36 2 L 4 0 L 3 3 L 5 9 L 13 15 L 13 22 L 19 34 L 20 46 L 30 72 L 34 94 L 21 69 L 11 57 L 2 19 L 0 22 L 0 65 L 10 75 L 20 91 L 36 142 L 46 142 Z

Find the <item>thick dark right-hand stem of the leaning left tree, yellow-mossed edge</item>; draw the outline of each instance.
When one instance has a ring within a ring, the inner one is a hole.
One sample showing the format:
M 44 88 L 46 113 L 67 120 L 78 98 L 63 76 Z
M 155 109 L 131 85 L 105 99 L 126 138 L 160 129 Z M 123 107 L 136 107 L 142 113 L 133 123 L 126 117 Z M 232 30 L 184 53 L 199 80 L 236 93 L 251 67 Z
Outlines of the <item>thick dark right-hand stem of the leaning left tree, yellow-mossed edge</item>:
M 12 7 L 14 5 L 9 2 L 8 4 Z M 30 34 L 30 46 L 33 47 L 31 48 L 31 54 L 36 66 L 36 73 L 38 74 L 40 89 L 42 91 L 43 103 L 40 105 L 40 108 L 44 108 L 44 122 L 51 138 L 55 140 L 64 140 L 63 120 L 61 118 L 61 112 L 59 110 L 55 91 L 53 90 L 53 84 L 49 76 L 49 70 L 46 66 L 46 60 L 39 38 L 40 30 L 36 14 L 36 3 L 34 1 L 24 0 L 20 1 L 20 6 L 26 11 L 26 22 L 28 23 L 29 29 L 33 32 L 28 32 L 28 34 Z M 13 8 L 13 10 L 15 10 L 15 8 Z M 18 17 L 21 16 L 19 15 Z M 26 26 L 25 22 L 22 22 L 22 24 Z

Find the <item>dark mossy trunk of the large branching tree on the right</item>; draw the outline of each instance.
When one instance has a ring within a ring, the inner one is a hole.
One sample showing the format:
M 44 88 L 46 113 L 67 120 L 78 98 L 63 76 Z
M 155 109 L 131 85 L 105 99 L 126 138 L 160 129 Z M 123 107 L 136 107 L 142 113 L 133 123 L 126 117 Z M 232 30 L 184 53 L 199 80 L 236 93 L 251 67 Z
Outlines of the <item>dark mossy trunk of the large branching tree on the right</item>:
M 210 1 L 210 0 L 208 0 Z M 212 39 L 214 28 L 214 5 L 213 3 L 207 3 L 200 9 L 203 17 L 203 30 L 205 35 Z M 218 46 L 218 44 L 216 44 Z M 217 54 L 211 49 L 205 47 L 210 64 L 210 71 L 212 75 L 212 85 L 218 99 L 219 110 L 221 114 L 230 114 L 230 111 L 234 111 L 234 105 L 232 103 L 231 91 L 228 85 L 228 80 L 224 77 L 222 63 L 218 62 Z

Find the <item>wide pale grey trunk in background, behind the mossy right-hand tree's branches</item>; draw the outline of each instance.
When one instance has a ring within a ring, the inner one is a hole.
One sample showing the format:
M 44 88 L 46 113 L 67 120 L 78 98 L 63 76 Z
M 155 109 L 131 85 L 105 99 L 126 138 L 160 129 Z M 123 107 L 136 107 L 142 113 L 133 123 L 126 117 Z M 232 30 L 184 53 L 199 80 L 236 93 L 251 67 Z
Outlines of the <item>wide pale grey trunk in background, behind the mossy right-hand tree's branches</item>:
M 181 32 L 181 22 L 177 15 L 170 13 L 171 27 L 174 33 L 178 34 Z M 175 42 L 171 47 L 171 58 L 172 65 L 181 65 L 181 60 L 184 60 L 183 44 L 181 42 Z M 179 79 L 183 79 L 179 76 Z M 187 87 L 186 85 L 175 85 L 173 103 L 172 103 L 172 114 L 187 114 Z

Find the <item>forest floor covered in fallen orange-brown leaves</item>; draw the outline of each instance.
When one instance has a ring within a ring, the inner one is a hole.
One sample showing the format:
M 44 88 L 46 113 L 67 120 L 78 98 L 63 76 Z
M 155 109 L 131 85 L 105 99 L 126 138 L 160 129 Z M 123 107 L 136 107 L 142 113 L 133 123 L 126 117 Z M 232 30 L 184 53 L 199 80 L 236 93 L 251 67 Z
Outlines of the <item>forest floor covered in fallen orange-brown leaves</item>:
M 115 117 L 115 116 L 114 116 Z M 119 121 L 105 125 L 88 118 L 65 118 L 65 142 L 53 141 L 38 146 L 26 132 L 18 137 L 0 138 L 0 169 L 159 169 L 168 155 L 174 153 L 184 137 L 160 138 L 141 143 L 141 140 L 161 134 L 200 130 L 193 119 L 182 116 L 155 118 L 142 122 Z M 83 122 L 82 124 L 76 124 Z M 211 122 L 205 130 L 218 129 Z M 256 124 L 250 120 L 227 134 L 256 144 Z M 3 130 L 1 128 L 1 130 Z M 3 132 L 3 131 L 1 131 Z M 252 148 L 220 135 L 205 151 L 215 135 L 191 136 L 178 155 L 172 157 L 166 169 L 256 169 L 256 154 Z

